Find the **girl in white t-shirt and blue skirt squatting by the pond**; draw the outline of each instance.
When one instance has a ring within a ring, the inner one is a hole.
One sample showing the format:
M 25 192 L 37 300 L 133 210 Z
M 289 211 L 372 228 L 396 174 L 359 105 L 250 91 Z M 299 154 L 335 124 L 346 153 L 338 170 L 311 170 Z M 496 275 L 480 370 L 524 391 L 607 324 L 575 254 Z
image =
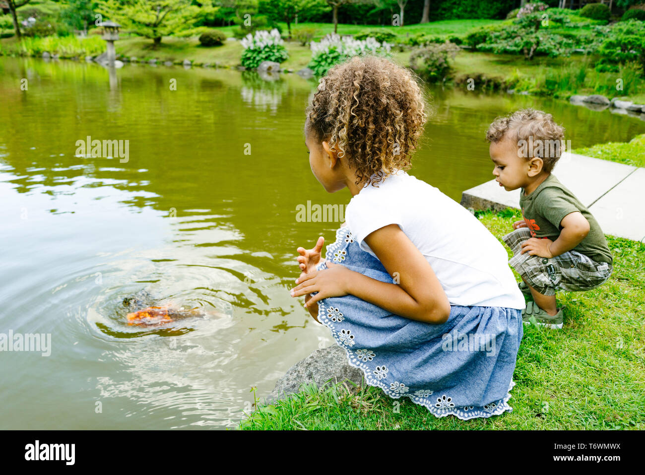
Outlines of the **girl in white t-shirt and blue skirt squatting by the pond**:
M 325 261 L 322 237 L 298 248 L 291 295 L 368 384 L 437 417 L 486 418 L 511 410 L 524 298 L 484 225 L 404 171 L 425 121 L 412 74 L 386 59 L 354 57 L 321 79 L 304 129 L 310 165 L 352 199 Z

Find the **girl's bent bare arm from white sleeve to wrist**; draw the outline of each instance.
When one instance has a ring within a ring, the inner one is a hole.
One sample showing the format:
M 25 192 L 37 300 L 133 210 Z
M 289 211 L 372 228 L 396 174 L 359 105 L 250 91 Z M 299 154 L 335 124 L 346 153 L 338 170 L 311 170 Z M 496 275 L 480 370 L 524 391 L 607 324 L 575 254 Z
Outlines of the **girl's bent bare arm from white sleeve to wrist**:
M 427 323 L 444 323 L 450 302 L 430 263 L 398 225 L 379 228 L 365 238 L 388 274 L 398 283 L 354 272 L 348 293 L 393 314 Z

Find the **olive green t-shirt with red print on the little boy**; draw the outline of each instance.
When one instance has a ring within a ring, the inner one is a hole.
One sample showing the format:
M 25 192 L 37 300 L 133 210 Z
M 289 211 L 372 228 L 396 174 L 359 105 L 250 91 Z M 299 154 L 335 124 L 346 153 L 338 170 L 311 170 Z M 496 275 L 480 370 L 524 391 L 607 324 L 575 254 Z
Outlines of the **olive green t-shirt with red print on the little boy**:
M 562 230 L 560 223 L 564 216 L 575 211 L 581 212 L 582 216 L 589 221 L 590 230 L 573 250 L 597 262 L 613 263 L 607 239 L 598 221 L 553 174 L 542 181 L 528 196 L 524 196 L 524 188 L 521 189 L 520 208 L 531 236 L 548 238 L 551 241 L 559 238 Z

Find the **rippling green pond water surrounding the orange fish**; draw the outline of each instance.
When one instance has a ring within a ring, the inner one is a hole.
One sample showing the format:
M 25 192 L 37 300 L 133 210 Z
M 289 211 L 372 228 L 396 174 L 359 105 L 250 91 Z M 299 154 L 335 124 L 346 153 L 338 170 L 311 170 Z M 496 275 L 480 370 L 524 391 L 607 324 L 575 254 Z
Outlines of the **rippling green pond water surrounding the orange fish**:
M 94 64 L 0 58 L 0 333 L 51 338 L 49 356 L 0 352 L 1 429 L 235 427 L 252 386 L 266 396 L 332 344 L 288 292 L 295 249 L 339 226 L 301 222 L 297 207 L 350 199 L 309 167 L 316 85 L 143 65 L 110 80 Z M 499 114 L 544 108 L 574 148 L 645 132 L 548 98 L 430 94 L 410 173 L 457 201 L 492 178 L 484 131 Z M 128 140 L 128 161 L 77 153 L 88 136 Z M 144 288 L 223 316 L 129 326 L 122 301 Z

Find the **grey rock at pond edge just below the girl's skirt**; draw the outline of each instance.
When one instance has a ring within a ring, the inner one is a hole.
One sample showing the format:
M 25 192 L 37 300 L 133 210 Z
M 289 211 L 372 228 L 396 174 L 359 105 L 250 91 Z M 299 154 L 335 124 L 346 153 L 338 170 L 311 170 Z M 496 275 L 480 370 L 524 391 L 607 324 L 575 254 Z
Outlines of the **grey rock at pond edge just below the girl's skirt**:
M 329 383 L 327 381 L 331 379 Z M 345 380 L 361 385 L 364 379 L 362 370 L 348 363 L 347 352 L 338 345 L 332 345 L 322 350 L 315 350 L 306 358 L 293 365 L 277 383 L 275 388 L 266 397 L 266 403 L 284 399 L 290 394 L 298 392 L 301 385 L 316 383 L 319 389 L 330 384 L 341 383 Z M 348 383 L 349 387 L 352 387 Z

